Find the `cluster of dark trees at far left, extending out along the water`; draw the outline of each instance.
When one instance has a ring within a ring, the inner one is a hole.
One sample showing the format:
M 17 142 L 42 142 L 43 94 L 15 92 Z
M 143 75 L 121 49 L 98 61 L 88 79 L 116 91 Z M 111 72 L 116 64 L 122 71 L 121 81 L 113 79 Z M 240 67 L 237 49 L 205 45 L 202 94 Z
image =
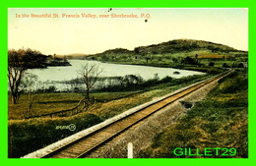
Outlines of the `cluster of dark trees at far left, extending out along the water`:
M 8 83 L 12 102 L 16 104 L 24 88 L 28 88 L 28 84 L 34 83 L 34 76 L 26 74 L 28 69 L 67 65 L 70 64 L 65 57 L 46 56 L 31 48 L 8 50 Z M 49 90 L 52 91 L 52 87 Z M 29 89 L 29 93 L 31 93 L 31 89 Z

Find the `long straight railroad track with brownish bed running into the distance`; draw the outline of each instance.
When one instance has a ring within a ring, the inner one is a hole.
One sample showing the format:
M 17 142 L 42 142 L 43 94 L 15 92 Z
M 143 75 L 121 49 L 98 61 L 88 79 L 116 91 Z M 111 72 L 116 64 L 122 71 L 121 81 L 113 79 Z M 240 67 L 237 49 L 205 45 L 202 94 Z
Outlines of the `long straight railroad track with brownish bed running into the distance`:
M 165 106 L 173 103 L 174 101 L 190 94 L 191 92 L 199 89 L 200 87 L 212 83 L 218 79 L 224 78 L 229 75 L 231 71 L 218 75 L 206 81 L 195 83 L 187 88 L 184 88 L 176 93 L 172 93 L 159 101 L 152 103 L 140 110 L 127 115 L 115 122 L 112 122 L 95 132 L 83 137 L 78 138 L 71 143 L 67 143 L 54 149 L 53 151 L 41 156 L 41 158 L 83 158 L 95 151 L 99 146 L 103 145 L 112 138 L 115 138 L 119 134 L 125 132 L 133 125 L 146 119 L 155 112 L 164 108 Z

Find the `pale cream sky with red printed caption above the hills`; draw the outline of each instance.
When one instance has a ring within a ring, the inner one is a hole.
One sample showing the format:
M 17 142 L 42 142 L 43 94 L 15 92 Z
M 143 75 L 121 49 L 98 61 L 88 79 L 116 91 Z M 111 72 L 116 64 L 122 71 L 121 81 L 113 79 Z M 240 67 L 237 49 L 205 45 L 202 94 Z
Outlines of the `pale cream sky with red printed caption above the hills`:
M 82 15 L 87 16 L 83 18 Z M 34 18 L 36 15 L 40 18 Z M 57 16 L 58 18 L 54 18 Z M 67 18 L 72 15 L 73 18 Z M 96 15 L 96 18 L 92 18 Z M 108 18 L 100 18 L 108 15 Z M 138 18 L 113 18 L 133 15 Z M 48 17 L 48 18 L 45 18 Z M 107 49 L 199 39 L 248 50 L 244 8 L 9 8 L 8 48 L 46 55 L 95 54 Z

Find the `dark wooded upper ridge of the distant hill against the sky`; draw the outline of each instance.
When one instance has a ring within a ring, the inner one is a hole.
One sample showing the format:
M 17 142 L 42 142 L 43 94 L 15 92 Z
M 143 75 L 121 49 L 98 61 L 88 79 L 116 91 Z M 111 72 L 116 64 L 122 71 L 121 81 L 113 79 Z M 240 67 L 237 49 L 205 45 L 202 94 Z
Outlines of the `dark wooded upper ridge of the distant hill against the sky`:
M 161 42 L 160 44 L 152 44 L 147 46 L 139 46 L 135 47 L 134 50 L 128 50 L 125 48 L 115 48 L 109 49 L 101 53 L 88 55 L 85 57 L 100 57 L 107 55 L 154 55 L 154 54 L 174 54 L 181 52 L 192 52 L 192 51 L 200 51 L 207 50 L 208 52 L 216 53 L 228 53 L 228 52 L 246 52 L 240 51 L 235 48 L 229 47 L 224 44 L 214 43 L 210 41 L 204 40 L 195 40 L 195 39 L 174 39 L 167 42 Z M 94 58 L 93 58 L 94 59 Z

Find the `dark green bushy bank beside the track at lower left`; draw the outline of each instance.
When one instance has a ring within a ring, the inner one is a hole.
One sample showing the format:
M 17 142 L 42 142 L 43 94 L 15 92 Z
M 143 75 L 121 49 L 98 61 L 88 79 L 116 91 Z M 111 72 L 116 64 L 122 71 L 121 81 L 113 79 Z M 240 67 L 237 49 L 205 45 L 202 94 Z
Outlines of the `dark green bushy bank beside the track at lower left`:
M 70 118 L 11 121 L 8 127 L 8 157 L 18 158 L 24 156 L 100 122 L 100 118 L 88 113 Z M 68 126 L 70 124 L 76 125 L 75 131 L 56 129 L 57 126 Z

